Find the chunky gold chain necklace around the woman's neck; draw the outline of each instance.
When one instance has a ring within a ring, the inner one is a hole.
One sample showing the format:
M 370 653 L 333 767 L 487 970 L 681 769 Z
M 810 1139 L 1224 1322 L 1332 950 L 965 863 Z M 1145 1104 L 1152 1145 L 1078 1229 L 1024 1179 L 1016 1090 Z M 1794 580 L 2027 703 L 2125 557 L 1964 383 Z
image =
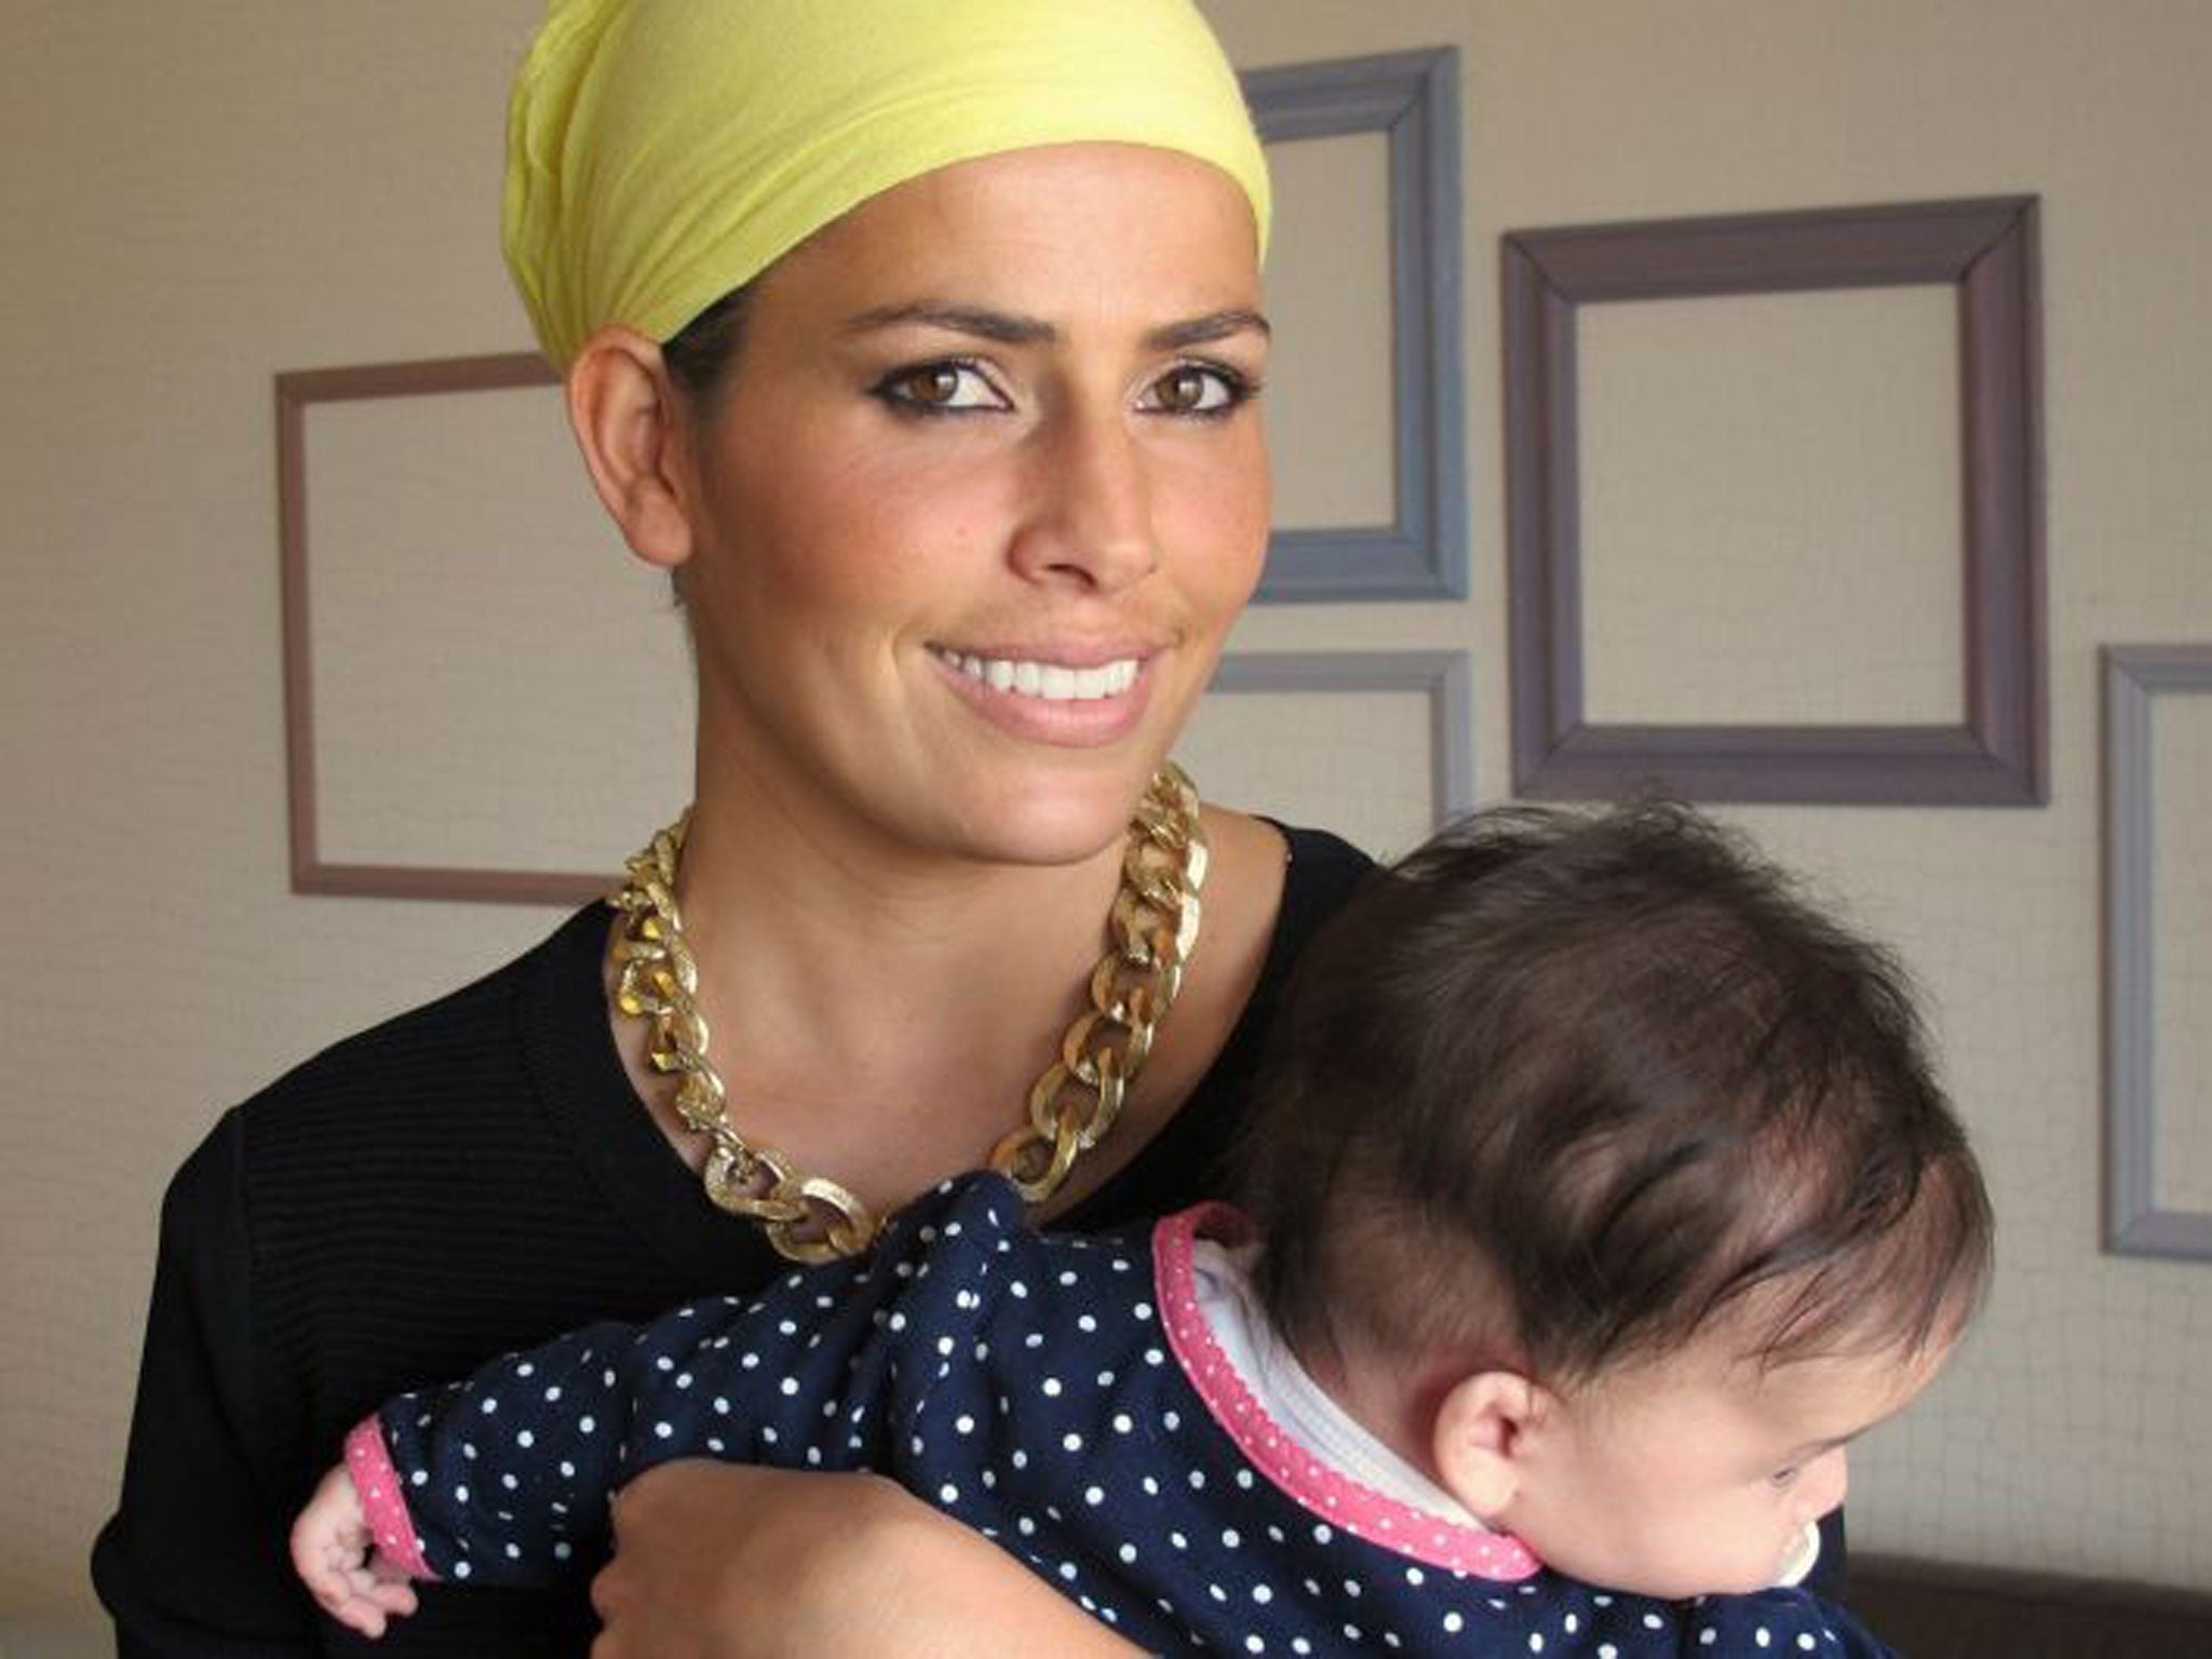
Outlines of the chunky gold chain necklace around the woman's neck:
M 646 1060 L 677 1077 L 677 1115 L 710 1141 L 706 1194 L 730 1214 L 761 1223 L 790 1261 L 856 1256 L 874 1243 L 878 1217 L 847 1188 L 803 1175 L 774 1146 L 739 1135 L 721 1073 L 706 1057 L 699 964 L 677 911 L 677 863 L 690 812 L 628 860 L 608 894 L 622 914 L 608 945 L 615 1006 L 648 1022 Z M 1060 1057 L 1029 1088 L 1026 1119 L 991 1148 L 991 1168 L 1029 1203 L 1044 1203 L 1075 1159 L 1113 1128 L 1128 1086 L 1152 1053 L 1152 1033 L 1183 984 L 1199 938 L 1206 830 L 1199 792 L 1172 761 L 1152 774 L 1128 821 L 1121 889 L 1108 916 L 1113 942 L 1091 969 L 1091 1006 L 1060 1037 Z

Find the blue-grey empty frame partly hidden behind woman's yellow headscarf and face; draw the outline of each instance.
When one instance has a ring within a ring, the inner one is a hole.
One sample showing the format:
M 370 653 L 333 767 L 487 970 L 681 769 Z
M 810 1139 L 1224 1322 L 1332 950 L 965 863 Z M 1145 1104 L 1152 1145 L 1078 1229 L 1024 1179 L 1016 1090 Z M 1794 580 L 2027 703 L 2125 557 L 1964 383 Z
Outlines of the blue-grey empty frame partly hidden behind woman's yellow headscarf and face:
M 1254 69 L 1243 88 L 1267 144 L 1383 133 L 1389 153 L 1394 520 L 1279 529 L 1256 597 L 1464 597 L 1458 51 Z

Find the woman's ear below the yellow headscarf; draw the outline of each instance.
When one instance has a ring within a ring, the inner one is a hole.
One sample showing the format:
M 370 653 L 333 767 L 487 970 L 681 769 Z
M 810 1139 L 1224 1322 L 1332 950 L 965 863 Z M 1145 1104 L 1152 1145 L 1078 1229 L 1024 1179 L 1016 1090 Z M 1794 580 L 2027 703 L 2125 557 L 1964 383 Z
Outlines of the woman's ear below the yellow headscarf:
M 661 568 L 692 555 L 681 422 L 659 345 L 626 327 L 602 327 L 584 341 L 568 365 L 568 425 L 622 540 Z

